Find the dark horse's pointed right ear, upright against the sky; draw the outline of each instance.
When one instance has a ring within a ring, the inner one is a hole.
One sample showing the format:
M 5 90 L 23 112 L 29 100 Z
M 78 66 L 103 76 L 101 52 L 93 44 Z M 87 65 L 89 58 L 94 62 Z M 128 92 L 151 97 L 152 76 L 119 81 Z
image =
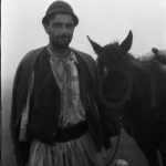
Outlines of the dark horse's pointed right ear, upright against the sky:
M 133 43 L 133 33 L 132 31 L 129 31 L 126 39 L 121 43 L 121 49 L 123 50 L 124 53 L 129 51 L 132 43 Z

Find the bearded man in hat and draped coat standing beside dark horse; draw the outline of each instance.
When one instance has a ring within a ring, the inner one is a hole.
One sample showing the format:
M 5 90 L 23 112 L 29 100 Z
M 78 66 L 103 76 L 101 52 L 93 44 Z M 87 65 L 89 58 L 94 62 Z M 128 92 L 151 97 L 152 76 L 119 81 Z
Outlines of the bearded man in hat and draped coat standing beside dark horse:
M 11 136 L 19 166 L 102 166 L 95 63 L 69 46 L 79 19 L 53 2 L 42 19 L 50 42 L 20 62 L 12 96 Z

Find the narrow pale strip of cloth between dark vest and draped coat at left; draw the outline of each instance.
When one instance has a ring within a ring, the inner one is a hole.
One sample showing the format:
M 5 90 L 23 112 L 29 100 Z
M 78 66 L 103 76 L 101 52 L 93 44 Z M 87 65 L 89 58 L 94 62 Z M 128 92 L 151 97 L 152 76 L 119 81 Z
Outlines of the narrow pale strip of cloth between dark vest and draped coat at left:
M 32 79 L 28 92 L 28 97 L 27 97 L 27 103 L 22 112 L 21 116 L 21 123 L 20 123 L 20 135 L 19 139 L 20 142 L 25 142 L 28 141 L 28 135 L 27 135 L 27 129 L 28 129 L 28 122 L 29 122 L 29 112 L 30 112 L 30 97 L 33 93 L 33 81 L 34 81 L 34 72 L 32 73 Z

